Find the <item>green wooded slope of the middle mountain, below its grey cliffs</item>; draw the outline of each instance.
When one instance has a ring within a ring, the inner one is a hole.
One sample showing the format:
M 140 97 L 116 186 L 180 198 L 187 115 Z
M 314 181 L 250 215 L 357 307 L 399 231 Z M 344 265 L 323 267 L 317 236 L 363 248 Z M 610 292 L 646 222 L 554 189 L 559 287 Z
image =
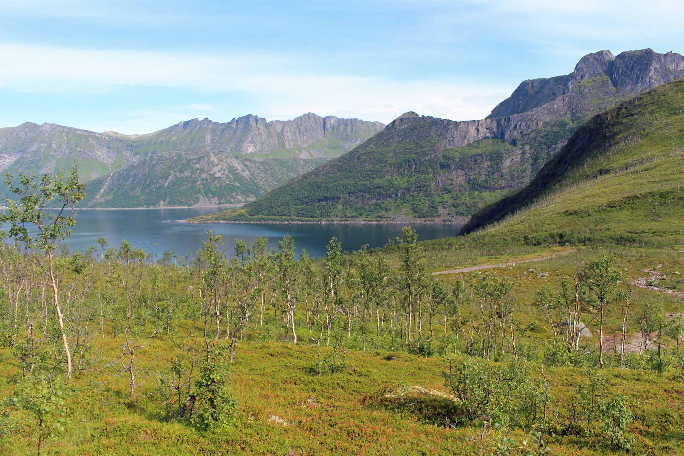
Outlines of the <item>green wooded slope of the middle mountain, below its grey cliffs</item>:
M 197 220 L 465 222 L 480 206 L 523 185 L 572 122 L 527 135 L 525 148 L 484 138 L 443 148 L 438 118 L 399 118 L 351 152 L 239 209 Z M 534 137 L 534 140 L 531 138 Z

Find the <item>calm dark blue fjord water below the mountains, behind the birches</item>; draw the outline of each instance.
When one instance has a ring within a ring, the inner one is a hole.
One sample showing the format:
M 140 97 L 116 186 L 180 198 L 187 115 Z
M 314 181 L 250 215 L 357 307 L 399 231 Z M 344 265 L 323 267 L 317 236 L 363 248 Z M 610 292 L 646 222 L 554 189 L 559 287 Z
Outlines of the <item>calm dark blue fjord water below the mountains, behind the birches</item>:
M 401 224 L 185 224 L 172 220 L 187 219 L 197 215 L 216 212 L 213 208 L 191 209 L 121 209 L 77 211 L 77 224 L 66 244 L 70 250 L 86 250 L 103 237 L 109 246 L 118 245 L 125 239 L 133 247 L 161 257 L 164 250 L 170 250 L 184 258 L 202 247 L 207 240 L 207 230 L 221 234 L 226 254 L 233 255 L 235 239 L 250 244 L 261 236 L 269 239 L 268 247 L 278 247 L 278 241 L 290 234 L 295 241 L 299 255 L 302 248 L 311 256 L 325 254 L 326 244 L 331 237 L 337 237 L 344 250 L 357 250 L 364 244 L 369 247 L 384 245 L 394 239 L 401 230 Z M 460 226 L 447 224 L 412 225 L 419 239 L 437 239 L 458 233 Z M 8 226 L 2 226 L 8 230 Z

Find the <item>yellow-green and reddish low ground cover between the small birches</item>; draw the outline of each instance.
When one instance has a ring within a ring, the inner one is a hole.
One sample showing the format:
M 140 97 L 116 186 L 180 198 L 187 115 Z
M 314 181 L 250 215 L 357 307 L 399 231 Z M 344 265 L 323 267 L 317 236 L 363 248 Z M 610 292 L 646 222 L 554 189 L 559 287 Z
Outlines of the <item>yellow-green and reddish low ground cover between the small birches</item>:
M 562 248 L 549 247 L 523 257 L 559 250 Z M 600 256 L 604 250 L 605 247 L 586 248 L 550 260 L 496 268 L 490 272 L 514 282 L 519 302 L 516 318 L 522 326 L 532 325 L 531 334 L 535 338 L 549 340 L 551 327 L 533 306 L 535 291 L 542 285 L 558 289 L 564 277 L 590 258 Z M 624 271 L 623 289 L 627 287 L 628 279 L 642 276 L 641 269 L 646 267 L 661 264 L 663 271 L 684 270 L 682 254 L 643 247 L 611 247 L 609 250 L 617 255 L 616 267 Z M 490 259 L 497 261 L 497 258 Z M 540 276 L 540 272 L 549 275 Z M 468 282 L 478 274 L 458 273 L 443 276 L 441 280 L 447 284 L 456 278 Z M 179 289 L 183 288 L 179 286 Z M 634 289 L 634 293 L 635 306 L 647 299 L 661 299 L 668 312 L 681 312 L 684 305 L 681 299 L 653 291 Z M 468 314 L 462 316 L 467 318 Z M 301 315 L 299 322 L 301 343 L 298 345 L 274 341 L 280 338 L 280 330 L 274 327 L 272 313 L 267 313 L 266 321 L 272 332 L 263 332 L 255 325 L 239 342 L 236 362 L 231 366 L 231 389 L 239 402 L 239 412 L 227 429 L 201 433 L 186 425 L 168 423 L 163 419 L 163 407 L 157 397 L 127 405 L 124 401 L 127 379 L 108 371 L 81 371 L 68 386 L 70 424 L 50 444 L 51 454 L 477 454 L 476 448 L 469 444 L 471 434 L 467 427 L 452 429 L 441 421 L 449 410 L 449 403 L 422 393 L 397 401 L 384 397 L 387 392 L 412 386 L 448 392 L 440 377 L 446 368 L 443 358 L 421 358 L 391 351 L 386 334 L 380 338 L 371 337 L 368 349 L 360 351 L 358 336 L 347 339 L 341 324 L 335 339 L 350 347 L 348 368 L 334 375 L 311 375 L 309 368 L 318 353 L 325 354 L 331 349 L 310 345 Z M 606 336 L 619 332 L 621 324 L 620 309 L 613 306 L 606 319 Z M 138 379 L 140 394 L 155 390 L 157 375 L 179 355 L 180 347 L 203 344 L 199 336 L 187 336 L 191 327 L 195 327 L 195 334 L 199 335 L 198 324 L 184 320 L 177 325 L 171 338 L 158 335 L 146 339 L 137 355 L 142 365 L 150 368 L 148 377 Z M 635 323 L 631 323 L 631 332 L 634 330 Z M 442 327 L 437 324 L 436 334 L 441 331 Z M 594 327 L 592 332 L 596 339 Z M 527 340 L 524 336 L 520 338 L 523 341 L 520 344 L 525 345 Z M 262 339 L 270 341 L 262 342 Z M 107 338 L 95 343 L 107 356 L 114 356 L 120 350 L 122 336 L 112 338 L 108 334 Z M 528 345 L 536 351 L 538 362 L 540 347 Z M 5 372 L 0 379 L 0 388 L 6 395 L 11 394 L 14 381 L 21 376 L 12 358 L 8 349 L 0 349 L 0 366 Z M 456 359 L 462 359 L 462 355 L 457 355 Z M 614 363 L 611 359 L 609 366 Z M 587 381 L 587 371 L 583 368 L 547 367 L 546 373 L 551 380 L 551 390 L 560 399 L 570 397 L 577 385 Z M 629 428 L 637 438 L 631 454 L 679 454 L 684 451 L 684 435 L 679 425 L 684 419 L 681 399 L 684 386 L 675 372 L 659 375 L 609 367 L 601 374 L 607 377 L 612 394 L 626 395 L 636 416 Z M 272 416 L 282 418 L 286 424 L 274 423 Z M 5 454 L 32 454 L 33 441 L 34 435 L 25 430 L 5 447 Z M 599 436 L 556 436 L 552 442 L 555 454 L 624 454 L 610 451 Z

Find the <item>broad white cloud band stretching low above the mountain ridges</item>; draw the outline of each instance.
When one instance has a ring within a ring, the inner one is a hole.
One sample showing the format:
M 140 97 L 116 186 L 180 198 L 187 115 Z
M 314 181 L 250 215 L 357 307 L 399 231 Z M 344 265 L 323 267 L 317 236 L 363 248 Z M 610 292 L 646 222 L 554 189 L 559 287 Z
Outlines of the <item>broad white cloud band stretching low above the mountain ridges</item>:
M 248 108 L 250 112 L 274 118 L 293 118 L 313 111 L 321 116 L 351 116 L 386 123 L 413 110 L 468 120 L 486 116 L 510 93 L 510 88 L 448 79 L 399 81 L 353 73 L 328 75 L 315 72 L 317 68 L 308 63 L 311 58 L 282 54 L 108 51 L 0 43 L 0 55 L 5 68 L 0 73 L 0 88 L 4 90 L 105 94 L 134 86 L 200 90 L 221 96 L 239 92 L 241 98 L 253 104 Z M 213 117 L 223 116 L 220 120 L 248 113 L 196 103 L 179 107 L 174 116 L 181 117 L 170 123 L 196 115 L 203 117 L 207 111 L 212 111 Z M 168 111 L 164 112 L 161 117 L 168 118 Z M 157 110 L 140 111 L 130 117 L 130 121 L 118 126 L 98 123 L 82 127 L 147 133 L 153 125 L 158 129 L 170 124 L 161 124 Z

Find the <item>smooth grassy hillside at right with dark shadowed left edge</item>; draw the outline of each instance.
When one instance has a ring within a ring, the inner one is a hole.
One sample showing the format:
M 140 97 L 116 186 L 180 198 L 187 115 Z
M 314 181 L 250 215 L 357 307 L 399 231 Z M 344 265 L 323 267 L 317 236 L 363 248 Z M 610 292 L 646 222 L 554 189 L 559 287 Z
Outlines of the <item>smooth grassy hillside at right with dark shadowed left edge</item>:
M 527 187 L 482 209 L 464 229 L 532 243 L 607 239 L 682 247 L 683 148 L 679 79 L 592 118 Z

